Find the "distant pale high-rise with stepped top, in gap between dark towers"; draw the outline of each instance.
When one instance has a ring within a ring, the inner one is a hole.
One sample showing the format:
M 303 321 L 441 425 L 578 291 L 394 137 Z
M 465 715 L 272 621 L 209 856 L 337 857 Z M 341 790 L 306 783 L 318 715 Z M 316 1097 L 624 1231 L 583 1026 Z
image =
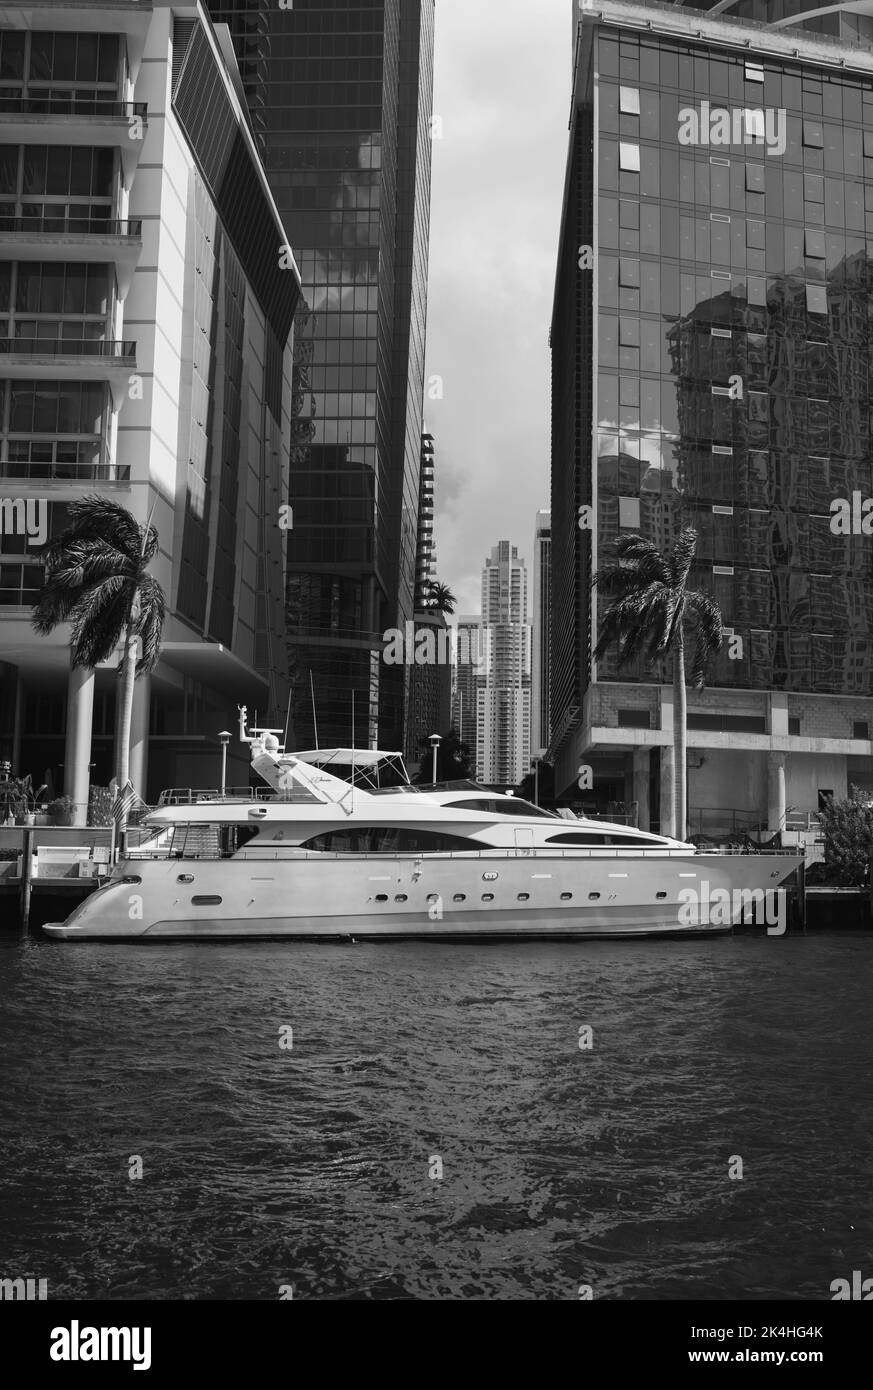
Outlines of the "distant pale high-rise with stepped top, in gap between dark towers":
M 495 545 L 485 560 L 482 628 L 489 660 L 477 677 L 475 776 L 513 787 L 531 763 L 531 628 L 527 570 L 509 541 Z

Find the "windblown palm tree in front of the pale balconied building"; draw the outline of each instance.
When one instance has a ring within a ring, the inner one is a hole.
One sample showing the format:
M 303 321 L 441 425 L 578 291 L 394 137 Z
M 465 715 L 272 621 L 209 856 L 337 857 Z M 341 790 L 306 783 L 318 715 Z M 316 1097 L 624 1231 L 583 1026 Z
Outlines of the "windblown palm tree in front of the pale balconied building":
M 76 499 L 68 514 L 67 530 L 42 548 L 46 582 L 31 621 L 43 637 L 61 623 L 72 624 L 74 667 L 93 670 L 124 644 L 115 746 L 115 777 L 122 791 L 129 776 L 133 681 L 153 671 L 161 655 L 164 591 L 147 573 L 157 552 L 157 531 L 150 521 L 140 525 L 118 502 L 99 495 Z

